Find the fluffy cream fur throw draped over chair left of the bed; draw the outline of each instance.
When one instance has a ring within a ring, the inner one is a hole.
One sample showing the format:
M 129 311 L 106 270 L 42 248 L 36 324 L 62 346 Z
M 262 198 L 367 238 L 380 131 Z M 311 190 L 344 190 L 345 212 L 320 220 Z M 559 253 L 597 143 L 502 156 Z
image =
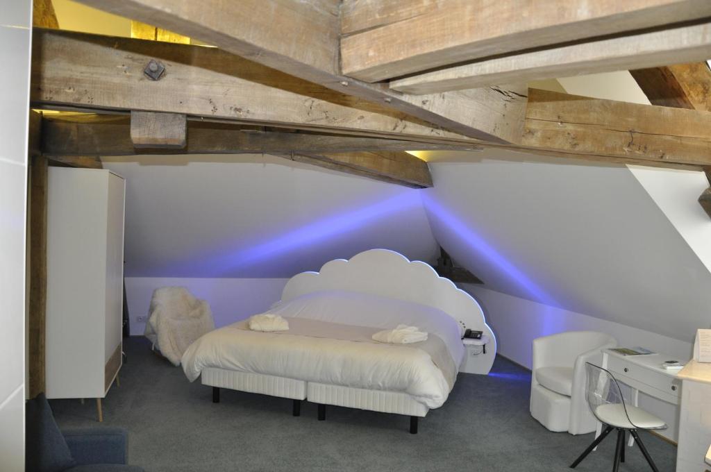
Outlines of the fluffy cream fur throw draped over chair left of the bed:
M 185 287 L 166 286 L 153 292 L 144 334 L 173 365 L 180 365 L 188 346 L 213 329 L 210 305 Z

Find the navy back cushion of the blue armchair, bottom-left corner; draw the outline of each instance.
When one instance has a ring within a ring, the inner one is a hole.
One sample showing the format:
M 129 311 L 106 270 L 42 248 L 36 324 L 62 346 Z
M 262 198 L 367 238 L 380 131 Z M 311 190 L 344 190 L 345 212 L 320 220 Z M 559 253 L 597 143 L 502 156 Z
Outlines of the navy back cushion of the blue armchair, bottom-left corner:
M 60 472 L 74 466 L 74 459 L 52 409 L 43 393 L 28 400 L 25 407 L 25 470 Z

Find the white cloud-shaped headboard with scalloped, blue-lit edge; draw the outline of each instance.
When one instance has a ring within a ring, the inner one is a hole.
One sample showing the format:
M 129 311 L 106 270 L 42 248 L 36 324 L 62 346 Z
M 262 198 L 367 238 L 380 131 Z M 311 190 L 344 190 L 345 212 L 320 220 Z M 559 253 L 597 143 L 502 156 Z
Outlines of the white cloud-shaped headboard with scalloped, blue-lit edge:
M 410 261 L 397 252 L 373 249 L 346 259 L 333 259 L 320 272 L 302 272 L 289 279 L 282 301 L 324 290 L 347 290 L 387 296 L 433 306 L 459 321 L 462 328 L 483 331 L 491 339 L 491 362 L 496 339 L 486 325 L 481 306 L 466 291 L 434 272 L 429 264 Z M 489 365 L 491 368 L 491 365 Z M 487 370 L 488 372 L 488 370 Z

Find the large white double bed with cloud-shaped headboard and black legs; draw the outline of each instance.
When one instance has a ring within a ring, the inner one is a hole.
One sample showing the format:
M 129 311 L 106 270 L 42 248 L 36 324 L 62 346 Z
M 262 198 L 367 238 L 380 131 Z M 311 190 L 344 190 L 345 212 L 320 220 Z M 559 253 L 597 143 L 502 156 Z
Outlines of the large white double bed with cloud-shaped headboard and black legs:
M 183 355 L 189 380 L 213 387 L 326 405 L 395 413 L 417 419 L 444 404 L 467 351 L 466 328 L 490 339 L 486 352 L 466 359 L 467 371 L 486 374 L 496 338 L 476 300 L 424 262 L 397 252 L 368 250 L 335 259 L 320 272 L 289 279 L 282 300 L 268 311 L 289 320 L 289 331 L 250 331 L 246 322 L 198 339 Z M 426 342 L 391 345 L 370 340 L 380 329 L 405 323 L 430 333 Z

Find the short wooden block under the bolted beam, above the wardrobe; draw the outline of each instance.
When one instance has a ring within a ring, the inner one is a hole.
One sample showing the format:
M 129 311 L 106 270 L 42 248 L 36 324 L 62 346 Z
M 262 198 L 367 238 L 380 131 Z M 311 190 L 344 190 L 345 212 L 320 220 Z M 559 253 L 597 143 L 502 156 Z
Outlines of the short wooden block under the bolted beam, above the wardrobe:
M 182 149 L 188 139 L 188 118 L 184 113 L 131 111 L 131 141 L 134 147 Z

